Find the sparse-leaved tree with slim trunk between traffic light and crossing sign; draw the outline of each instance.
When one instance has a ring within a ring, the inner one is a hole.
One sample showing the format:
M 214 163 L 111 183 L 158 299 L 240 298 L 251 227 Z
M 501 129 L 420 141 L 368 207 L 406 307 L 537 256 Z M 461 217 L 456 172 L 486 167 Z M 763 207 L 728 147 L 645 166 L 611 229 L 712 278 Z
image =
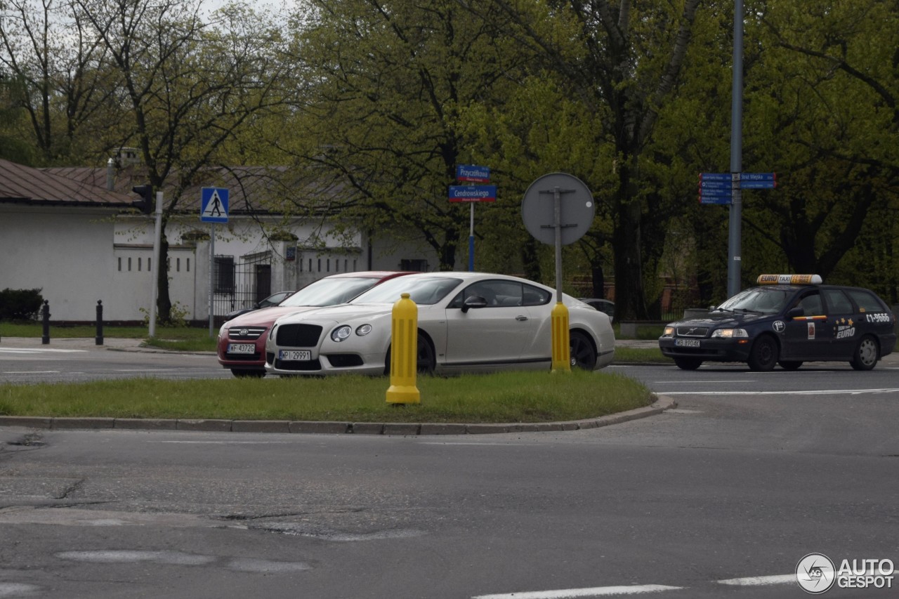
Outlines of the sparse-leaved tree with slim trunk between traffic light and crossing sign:
M 264 15 L 230 4 L 216 25 L 204 23 L 200 2 L 75 0 L 109 54 L 121 81 L 126 121 L 112 126 L 111 147 L 139 149 L 155 190 L 165 198 L 160 264 L 167 264 L 165 223 L 214 165 L 221 148 L 251 117 L 283 101 L 280 34 Z M 159 269 L 157 307 L 171 319 L 168 273 Z

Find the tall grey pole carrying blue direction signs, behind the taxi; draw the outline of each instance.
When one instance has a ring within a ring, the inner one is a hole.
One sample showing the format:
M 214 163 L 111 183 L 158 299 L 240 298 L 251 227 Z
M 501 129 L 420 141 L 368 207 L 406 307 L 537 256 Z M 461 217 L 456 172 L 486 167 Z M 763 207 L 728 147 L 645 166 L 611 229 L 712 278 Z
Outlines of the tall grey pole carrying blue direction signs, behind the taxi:
M 731 87 L 731 178 L 733 201 L 727 241 L 727 297 L 740 291 L 741 244 L 743 228 L 743 194 L 740 174 L 743 171 L 743 0 L 734 0 L 734 68 Z

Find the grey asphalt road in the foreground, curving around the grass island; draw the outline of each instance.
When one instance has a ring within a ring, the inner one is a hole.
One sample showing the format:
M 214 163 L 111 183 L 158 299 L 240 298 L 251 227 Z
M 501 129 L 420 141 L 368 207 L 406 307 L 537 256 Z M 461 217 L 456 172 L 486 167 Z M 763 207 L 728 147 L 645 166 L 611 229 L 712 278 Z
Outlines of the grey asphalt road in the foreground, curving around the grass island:
M 608 371 L 679 406 L 565 433 L 0 428 L 0 597 L 803 597 L 809 553 L 899 562 L 894 365 Z

